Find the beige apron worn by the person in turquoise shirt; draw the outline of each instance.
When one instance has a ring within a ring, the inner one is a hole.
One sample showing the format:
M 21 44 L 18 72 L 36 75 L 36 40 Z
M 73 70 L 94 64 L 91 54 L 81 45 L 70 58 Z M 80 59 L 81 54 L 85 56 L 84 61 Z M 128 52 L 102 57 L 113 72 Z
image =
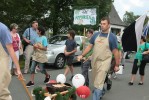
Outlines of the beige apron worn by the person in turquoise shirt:
M 37 45 L 42 46 L 42 44 L 39 44 L 39 43 L 37 43 Z M 40 62 L 40 63 L 48 62 L 48 58 L 46 56 L 46 51 L 40 50 L 40 49 L 35 49 L 35 51 L 32 55 L 32 60 Z

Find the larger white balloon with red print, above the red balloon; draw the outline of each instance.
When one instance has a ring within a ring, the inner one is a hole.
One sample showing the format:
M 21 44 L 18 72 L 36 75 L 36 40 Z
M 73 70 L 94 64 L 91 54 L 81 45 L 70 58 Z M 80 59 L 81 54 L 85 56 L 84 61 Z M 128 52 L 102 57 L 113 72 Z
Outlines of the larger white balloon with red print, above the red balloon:
M 82 74 L 76 74 L 73 78 L 72 78 L 72 84 L 74 87 L 78 88 L 80 86 L 83 86 L 85 83 L 85 78 Z

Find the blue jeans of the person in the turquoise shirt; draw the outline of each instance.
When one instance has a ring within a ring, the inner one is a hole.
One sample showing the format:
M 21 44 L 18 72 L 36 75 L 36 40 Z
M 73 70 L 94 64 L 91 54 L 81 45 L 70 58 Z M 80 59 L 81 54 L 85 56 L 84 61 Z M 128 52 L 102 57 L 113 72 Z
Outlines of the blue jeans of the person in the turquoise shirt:
M 46 74 L 46 70 L 44 68 L 44 63 L 40 63 L 40 62 L 37 62 L 34 60 L 32 61 L 32 65 L 31 65 L 31 69 L 30 69 L 31 74 L 35 74 L 35 68 L 37 65 L 39 66 L 41 73 Z

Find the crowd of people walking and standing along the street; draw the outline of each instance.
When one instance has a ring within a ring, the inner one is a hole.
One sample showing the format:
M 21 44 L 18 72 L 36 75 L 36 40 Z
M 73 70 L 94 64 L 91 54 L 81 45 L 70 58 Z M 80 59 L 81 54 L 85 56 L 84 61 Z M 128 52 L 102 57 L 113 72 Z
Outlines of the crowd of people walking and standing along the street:
M 80 50 L 83 52 L 77 57 L 77 60 L 81 61 L 81 73 L 85 78 L 84 85 L 88 87 L 90 86 L 88 71 L 92 69 L 92 83 L 94 86 L 92 100 L 101 100 L 105 93 L 104 84 L 106 83 L 107 90 L 110 90 L 112 86 L 110 76 L 119 71 L 120 64 L 124 66 L 121 39 L 111 32 L 109 18 L 102 18 L 100 25 L 100 32 L 94 32 L 92 29 L 87 30 L 86 38 L 83 39 L 80 45 Z M 44 64 L 48 61 L 46 57 L 48 42 L 46 36 L 44 36 L 44 28 L 38 27 L 38 22 L 33 21 L 31 27 L 24 31 L 23 41 L 21 41 L 17 29 L 18 25 L 15 23 L 10 25 L 10 29 L 3 23 L 0 23 L 0 64 L 3 65 L 0 70 L 0 100 L 11 100 L 8 90 L 11 81 L 11 71 L 18 77 L 23 78 L 19 66 L 21 49 L 24 50 L 23 54 L 25 57 L 23 73 L 31 73 L 30 81 L 26 86 L 34 85 L 36 69 L 39 69 L 45 75 L 44 83 L 50 80 L 50 75 L 44 68 Z M 69 30 L 67 36 L 68 39 L 64 49 L 67 67 L 64 75 L 67 76 L 68 72 L 71 71 L 72 76 L 70 80 L 72 80 L 74 76 L 73 59 L 77 51 L 77 43 L 74 40 L 75 31 Z M 149 51 L 145 51 L 148 48 L 149 44 L 146 42 L 145 37 L 142 36 L 134 59 L 129 85 L 133 85 L 138 69 L 140 71 L 140 82 L 138 84 L 143 85 L 146 62 L 142 60 L 142 55 L 149 53 Z

